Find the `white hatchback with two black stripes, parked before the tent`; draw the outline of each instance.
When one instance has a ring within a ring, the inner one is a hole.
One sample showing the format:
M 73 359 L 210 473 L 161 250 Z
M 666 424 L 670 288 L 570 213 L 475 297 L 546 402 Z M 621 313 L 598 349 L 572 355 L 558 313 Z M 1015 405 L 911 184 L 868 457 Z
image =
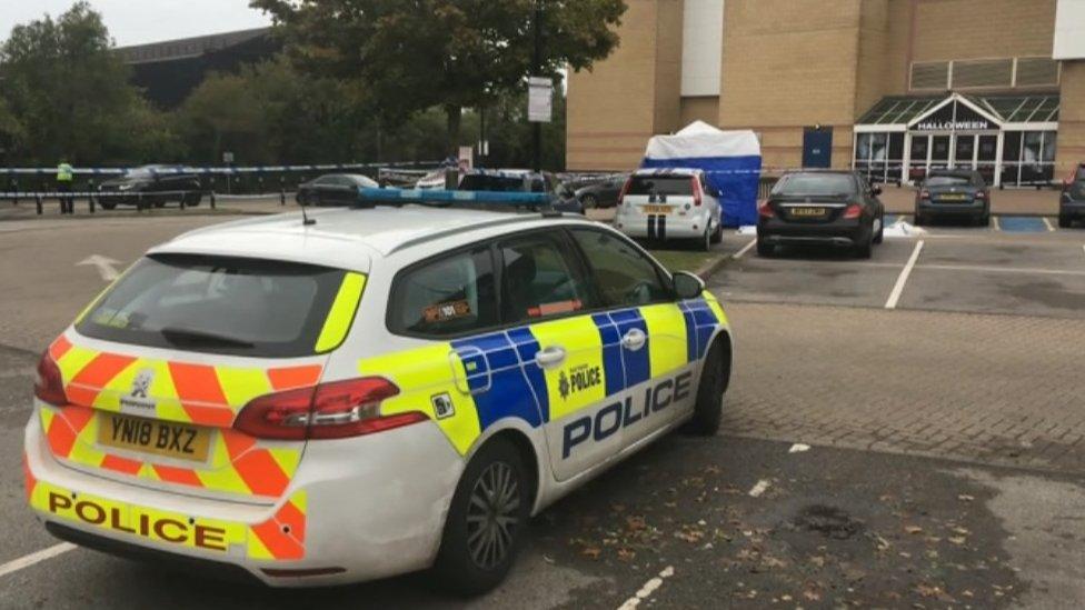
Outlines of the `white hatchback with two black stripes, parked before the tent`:
M 699 169 L 641 169 L 618 196 L 614 226 L 641 239 L 694 240 L 708 250 L 724 239 L 719 192 Z

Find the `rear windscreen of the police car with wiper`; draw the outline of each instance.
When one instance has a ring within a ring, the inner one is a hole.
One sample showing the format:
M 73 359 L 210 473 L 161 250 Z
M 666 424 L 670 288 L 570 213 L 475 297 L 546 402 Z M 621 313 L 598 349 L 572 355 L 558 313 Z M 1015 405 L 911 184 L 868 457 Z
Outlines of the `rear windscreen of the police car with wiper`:
M 285 261 L 152 256 L 126 272 L 76 329 L 183 351 L 311 356 L 346 274 Z

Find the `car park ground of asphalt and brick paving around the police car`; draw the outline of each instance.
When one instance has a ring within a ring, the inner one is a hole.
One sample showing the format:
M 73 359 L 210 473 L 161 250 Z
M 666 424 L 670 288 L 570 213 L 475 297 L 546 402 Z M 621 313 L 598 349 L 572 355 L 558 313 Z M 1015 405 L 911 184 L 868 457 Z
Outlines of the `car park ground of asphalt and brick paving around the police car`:
M 111 269 L 221 220 L 0 223 L 0 608 L 464 607 L 425 573 L 283 592 L 58 547 L 26 507 L 40 350 Z M 726 232 L 709 286 L 738 347 L 720 434 L 668 436 L 541 513 L 508 581 L 467 606 L 1085 599 L 1085 232 L 1007 220 L 887 237 L 869 261 L 760 259 Z

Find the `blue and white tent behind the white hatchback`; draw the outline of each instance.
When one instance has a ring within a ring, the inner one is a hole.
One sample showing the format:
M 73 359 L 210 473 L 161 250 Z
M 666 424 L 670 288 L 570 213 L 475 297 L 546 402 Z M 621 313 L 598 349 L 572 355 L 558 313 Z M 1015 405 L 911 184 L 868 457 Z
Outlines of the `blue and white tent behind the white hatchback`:
M 725 227 L 757 224 L 762 147 L 753 131 L 721 131 L 694 121 L 674 136 L 648 140 L 643 168 L 695 168 L 723 196 Z

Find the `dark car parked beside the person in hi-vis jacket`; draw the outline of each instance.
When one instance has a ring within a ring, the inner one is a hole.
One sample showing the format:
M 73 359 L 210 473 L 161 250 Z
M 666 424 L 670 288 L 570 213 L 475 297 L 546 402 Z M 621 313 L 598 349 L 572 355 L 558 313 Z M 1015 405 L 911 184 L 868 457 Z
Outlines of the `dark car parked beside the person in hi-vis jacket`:
M 200 177 L 181 166 L 142 166 L 119 178 L 102 181 L 97 203 L 104 210 L 117 206 L 155 206 L 183 201 L 199 206 L 203 198 Z

